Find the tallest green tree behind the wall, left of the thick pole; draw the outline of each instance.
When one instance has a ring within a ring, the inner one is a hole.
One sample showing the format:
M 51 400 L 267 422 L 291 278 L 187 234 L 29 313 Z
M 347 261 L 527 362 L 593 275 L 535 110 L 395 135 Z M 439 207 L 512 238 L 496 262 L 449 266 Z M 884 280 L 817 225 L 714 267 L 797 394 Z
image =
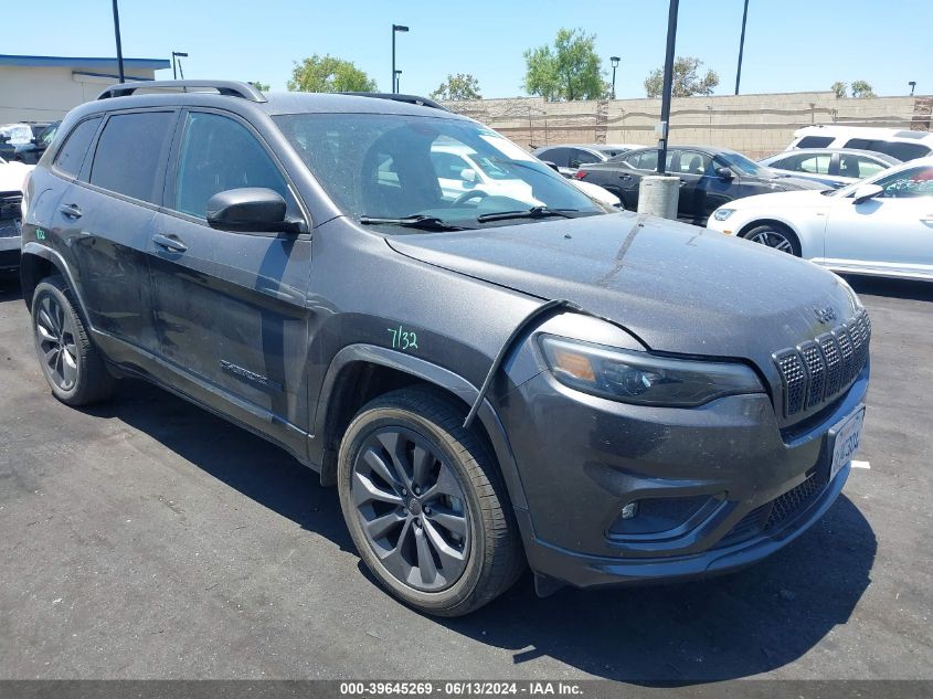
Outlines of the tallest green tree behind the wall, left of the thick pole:
M 596 55 L 595 34 L 562 29 L 554 45 L 524 52 L 524 89 L 545 99 L 601 99 L 608 96 L 602 61 Z

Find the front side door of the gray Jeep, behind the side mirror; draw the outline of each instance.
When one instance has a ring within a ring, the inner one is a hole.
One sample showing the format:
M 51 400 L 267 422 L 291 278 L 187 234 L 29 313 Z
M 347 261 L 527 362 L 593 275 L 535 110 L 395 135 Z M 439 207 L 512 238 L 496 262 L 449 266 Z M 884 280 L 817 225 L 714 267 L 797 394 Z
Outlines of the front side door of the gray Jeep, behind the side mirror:
M 301 453 L 310 235 L 219 231 L 205 208 L 218 192 L 264 187 L 308 216 L 259 134 L 232 114 L 183 113 L 171 163 L 149 246 L 171 381 Z

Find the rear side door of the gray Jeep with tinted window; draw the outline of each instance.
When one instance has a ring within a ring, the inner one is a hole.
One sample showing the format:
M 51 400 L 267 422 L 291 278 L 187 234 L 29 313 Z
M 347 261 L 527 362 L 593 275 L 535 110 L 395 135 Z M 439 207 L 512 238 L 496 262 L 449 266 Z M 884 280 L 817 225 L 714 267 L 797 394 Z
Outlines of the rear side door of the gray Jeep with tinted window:
M 146 248 L 160 203 L 165 157 L 177 113 L 116 113 L 103 127 L 53 210 L 73 255 L 76 283 L 92 327 L 114 340 L 107 353 L 127 359 L 120 348 L 153 352 L 152 298 Z M 73 139 L 97 131 L 96 119 L 79 124 L 53 169 L 61 169 Z M 67 167 L 65 165 L 65 167 Z

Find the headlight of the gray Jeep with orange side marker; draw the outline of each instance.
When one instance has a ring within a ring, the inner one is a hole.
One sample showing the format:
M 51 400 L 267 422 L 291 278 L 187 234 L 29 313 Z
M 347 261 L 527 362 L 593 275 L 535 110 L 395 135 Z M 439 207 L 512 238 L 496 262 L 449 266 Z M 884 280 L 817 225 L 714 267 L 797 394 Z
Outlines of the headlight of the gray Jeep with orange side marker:
M 541 336 L 554 378 L 571 389 L 623 403 L 692 407 L 723 395 L 763 393 L 744 364 L 672 359 Z

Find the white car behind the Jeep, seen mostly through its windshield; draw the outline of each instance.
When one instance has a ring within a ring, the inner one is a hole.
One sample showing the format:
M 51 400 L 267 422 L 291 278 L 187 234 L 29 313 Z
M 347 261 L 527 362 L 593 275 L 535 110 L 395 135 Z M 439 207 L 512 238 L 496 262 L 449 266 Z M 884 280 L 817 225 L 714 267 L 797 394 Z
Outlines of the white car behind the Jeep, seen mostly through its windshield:
M 497 165 L 492 159 L 480 156 L 456 141 L 438 140 L 433 144 L 431 163 L 434 166 L 444 199 L 447 201 L 466 202 L 486 195 L 537 201 L 531 194 L 531 186 L 518 178 L 513 169 Z M 380 177 L 395 177 L 397 181 L 397 176 L 393 172 L 380 172 Z M 586 187 L 580 187 L 577 182 L 574 184 L 590 198 L 606 206 L 618 208 L 618 197 L 603 188 L 589 186 L 589 183 Z

